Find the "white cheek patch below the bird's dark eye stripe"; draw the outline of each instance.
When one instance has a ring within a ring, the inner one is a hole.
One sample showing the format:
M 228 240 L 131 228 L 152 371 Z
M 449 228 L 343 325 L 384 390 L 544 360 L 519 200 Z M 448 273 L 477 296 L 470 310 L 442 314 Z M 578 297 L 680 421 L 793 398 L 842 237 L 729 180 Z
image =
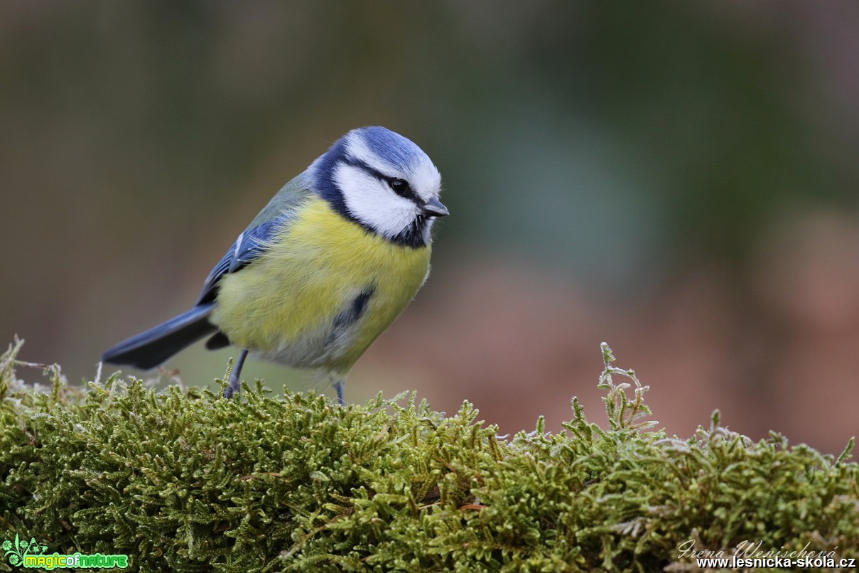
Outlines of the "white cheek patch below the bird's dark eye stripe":
M 417 216 L 417 205 L 398 197 L 363 169 L 340 165 L 334 170 L 334 182 L 343 192 L 350 214 L 381 235 L 399 235 Z

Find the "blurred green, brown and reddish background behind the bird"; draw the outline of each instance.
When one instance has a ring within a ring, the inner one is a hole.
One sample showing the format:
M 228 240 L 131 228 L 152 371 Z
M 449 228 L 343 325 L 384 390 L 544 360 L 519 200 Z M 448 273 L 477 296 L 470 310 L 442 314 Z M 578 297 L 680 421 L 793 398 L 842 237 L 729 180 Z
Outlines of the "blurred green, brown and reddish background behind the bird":
M 846 2 L 5 2 L 0 344 L 91 380 L 284 182 L 386 125 L 452 215 L 350 401 L 414 388 L 513 433 L 560 430 L 577 395 L 605 425 L 605 340 L 669 433 L 719 408 L 838 454 L 859 433 L 857 29 Z M 230 356 L 166 366 L 214 387 Z

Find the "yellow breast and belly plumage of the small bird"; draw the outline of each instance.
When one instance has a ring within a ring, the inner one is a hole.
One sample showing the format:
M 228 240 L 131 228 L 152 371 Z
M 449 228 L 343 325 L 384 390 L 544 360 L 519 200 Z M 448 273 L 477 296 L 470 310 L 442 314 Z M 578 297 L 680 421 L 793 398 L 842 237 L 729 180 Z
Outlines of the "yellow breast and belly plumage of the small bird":
M 345 374 L 411 302 L 430 247 L 395 245 L 309 199 L 258 259 L 222 278 L 210 320 L 240 348 Z

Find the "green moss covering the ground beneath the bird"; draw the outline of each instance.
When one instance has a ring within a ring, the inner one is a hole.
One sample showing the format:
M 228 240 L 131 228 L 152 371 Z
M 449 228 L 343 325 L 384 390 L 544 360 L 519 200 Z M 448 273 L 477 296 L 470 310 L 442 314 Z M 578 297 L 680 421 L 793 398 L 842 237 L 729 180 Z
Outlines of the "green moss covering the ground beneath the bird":
M 603 346 L 608 430 L 512 438 L 400 396 L 333 406 L 113 375 L 86 391 L 0 362 L 0 537 L 126 553 L 139 570 L 683 570 L 680 546 L 857 557 L 859 466 L 719 425 L 650 431 L 642 387 Z M 630 383 L 616 383 L 624 375 Z M 631 391 L 631 395 L 629 392 Z M 852 444 L 852 441 L 851 441 Z M 0 570 L 12 570 L 6 559 Z

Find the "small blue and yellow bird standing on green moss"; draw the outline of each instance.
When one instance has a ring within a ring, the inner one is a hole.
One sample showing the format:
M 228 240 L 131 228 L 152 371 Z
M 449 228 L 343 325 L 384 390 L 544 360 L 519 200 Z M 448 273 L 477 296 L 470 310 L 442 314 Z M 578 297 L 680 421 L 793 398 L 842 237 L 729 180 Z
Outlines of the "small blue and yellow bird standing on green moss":
M 104 353 L 151 369 L 201 338 L 241 349 L 224 396 L 241 387 L 248 352 L 331 381 L 346 375 L 430 273 L 442 178 L 409 139 L 352 130 L 289 181 L 206 277 L 191 310 Z

